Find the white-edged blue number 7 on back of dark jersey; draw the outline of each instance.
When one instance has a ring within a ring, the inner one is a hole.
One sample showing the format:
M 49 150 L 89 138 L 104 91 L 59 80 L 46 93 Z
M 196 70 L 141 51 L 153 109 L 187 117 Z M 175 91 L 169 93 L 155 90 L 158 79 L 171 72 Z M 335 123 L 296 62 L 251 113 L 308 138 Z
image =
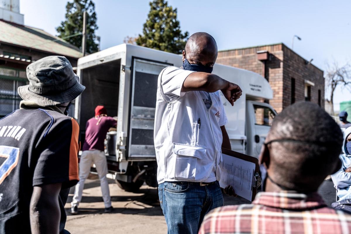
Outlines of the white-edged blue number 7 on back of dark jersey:
M 0 166 L 0 184 L 18 163 L 20 149 L 12 146 L 0 146 L 0 157 L 6 160 Z

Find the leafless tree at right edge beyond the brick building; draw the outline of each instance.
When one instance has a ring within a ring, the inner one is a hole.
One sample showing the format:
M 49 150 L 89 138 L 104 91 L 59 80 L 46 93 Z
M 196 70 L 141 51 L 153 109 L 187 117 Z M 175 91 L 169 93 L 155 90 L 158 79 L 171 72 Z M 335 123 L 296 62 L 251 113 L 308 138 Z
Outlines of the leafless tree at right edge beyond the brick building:
M 347 88 L 351 92 L 351 65 L 346 63 L 339 66 L 334 60 L 332 64 L 327 64 L 325 71 L 325 87 L 330 89 L 330 103 L 332 114 L 334 114 L 333 96 L 337 86 Z

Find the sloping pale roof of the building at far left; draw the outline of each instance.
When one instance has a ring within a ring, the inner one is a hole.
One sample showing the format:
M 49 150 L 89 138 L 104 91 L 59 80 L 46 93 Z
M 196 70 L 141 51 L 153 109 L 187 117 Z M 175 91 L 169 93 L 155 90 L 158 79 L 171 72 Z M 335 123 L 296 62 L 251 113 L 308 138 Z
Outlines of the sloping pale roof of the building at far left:
M 42 29 L 18 25 L 4 20 L 0 20 L 0 42 L 24 46 L 53 54 L 80 58 L 83 54 L 79 48 L 60 40 L 57 36 L 51 35 Z M 50 42 L 50 43 L 48 43 Z

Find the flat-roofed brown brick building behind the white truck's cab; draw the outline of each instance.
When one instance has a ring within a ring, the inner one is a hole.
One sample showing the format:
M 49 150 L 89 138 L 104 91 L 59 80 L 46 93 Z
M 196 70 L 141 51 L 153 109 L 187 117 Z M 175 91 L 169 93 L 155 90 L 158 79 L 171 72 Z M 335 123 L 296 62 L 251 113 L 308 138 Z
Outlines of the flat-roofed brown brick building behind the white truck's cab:
M 273 90 L 269 103 L 278 113 L 303 100 L 324 108 L 323 71 L 283 43 L 219 51 L 216 62 L 264 76 Z

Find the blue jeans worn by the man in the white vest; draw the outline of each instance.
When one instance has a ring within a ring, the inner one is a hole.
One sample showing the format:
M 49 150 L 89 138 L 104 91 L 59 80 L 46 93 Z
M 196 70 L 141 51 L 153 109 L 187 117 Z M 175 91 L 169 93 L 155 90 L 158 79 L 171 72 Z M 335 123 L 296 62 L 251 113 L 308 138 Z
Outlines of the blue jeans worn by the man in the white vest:
M 224 203 L 218 181 L 206 186 L 164 182 L 158 185 L 158 196 L 168 234 L 197 234 L 205 214 Z

